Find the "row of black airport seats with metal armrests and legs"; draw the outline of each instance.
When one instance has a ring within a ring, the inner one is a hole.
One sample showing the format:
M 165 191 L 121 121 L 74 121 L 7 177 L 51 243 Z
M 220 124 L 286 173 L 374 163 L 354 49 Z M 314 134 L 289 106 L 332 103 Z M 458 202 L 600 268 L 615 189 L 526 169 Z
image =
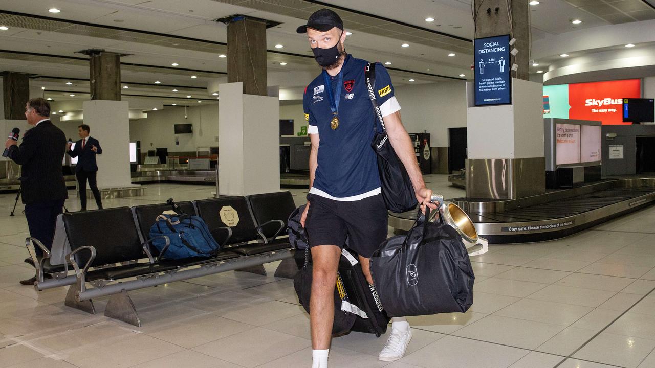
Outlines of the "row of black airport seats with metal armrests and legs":
M 166 259 L 151 245 L 150 228 L 168 204 L 119 207 L 59 215 L 52 250 L 26 239 L 39 291 L 70 285 L 65 304 L 95 314 L 92 299 L 109 295 L 105 316 L 141 326 L 128 291 L 229 270 L 265 274 L 264 263 L 282 261 L 275 276 L 293 277 L 297 265 L 286 237 L 295 210 L 289 192 L 178 202 L 200 216 L 221 251 L 213 257 Z M 168 239 L 166 240 L 168 244 Z M 35 247 L 43 250 L 37 256 Z M 26 260 L 28 261 L 28 260 Z M 69 270 L 74 274 L 69 274 Z

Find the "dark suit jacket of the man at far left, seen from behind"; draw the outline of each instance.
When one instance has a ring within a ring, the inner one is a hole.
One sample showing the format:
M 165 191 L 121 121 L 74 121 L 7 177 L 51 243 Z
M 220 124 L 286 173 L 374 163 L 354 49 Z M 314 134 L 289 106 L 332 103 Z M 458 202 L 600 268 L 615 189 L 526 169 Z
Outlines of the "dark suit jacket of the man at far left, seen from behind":
M 62 174 L 66 137 L 50 120 L 25 132 L 20 146 L 12 145 L 9 158 L 22 165 L 20 177 L 24 204 L 68 198 Z

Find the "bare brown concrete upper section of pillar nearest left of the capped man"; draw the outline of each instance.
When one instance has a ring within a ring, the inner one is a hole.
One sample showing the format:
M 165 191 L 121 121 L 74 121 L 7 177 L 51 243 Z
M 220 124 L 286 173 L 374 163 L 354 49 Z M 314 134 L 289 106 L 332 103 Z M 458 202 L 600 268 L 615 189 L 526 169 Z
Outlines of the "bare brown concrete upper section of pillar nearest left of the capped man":
M 242 82 L 244 94 L 267 96 L 265 21 L 245 16 L 227 24 L 227 82 Z

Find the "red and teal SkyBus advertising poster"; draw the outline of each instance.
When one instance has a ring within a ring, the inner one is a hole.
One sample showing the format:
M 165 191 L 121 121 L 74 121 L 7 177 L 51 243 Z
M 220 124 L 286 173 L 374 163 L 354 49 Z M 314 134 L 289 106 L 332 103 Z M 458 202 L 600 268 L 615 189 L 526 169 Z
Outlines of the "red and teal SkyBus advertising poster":
M 641 97 L 641 79 L 544 86 L 544 118 L 623 122 L 623 98 Z

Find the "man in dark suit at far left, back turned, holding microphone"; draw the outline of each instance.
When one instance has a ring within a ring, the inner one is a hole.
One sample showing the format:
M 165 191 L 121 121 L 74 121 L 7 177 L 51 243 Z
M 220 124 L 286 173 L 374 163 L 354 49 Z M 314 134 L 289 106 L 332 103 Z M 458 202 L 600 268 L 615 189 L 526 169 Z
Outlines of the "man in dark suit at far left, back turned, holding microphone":
M 21 197 L 25 204 L 29 235 L 37 238 L 46 248 L 52 247 L 52 237 L 57 215 L 62 213 L 64 200 L 68 198 L 62 160 L 66 148 L 64 132 L 52 124 L 50 103 L 43 98 L 33 98 L 25 107 L 29 129 L 20 146 L 13 139 L 7 139 L 9 158 L 22 165 L 20 177 Z M 41 256 L 41 248 L 36 247 Z M 36 278 L 22 280 L 23 285 L 32 285 Z

